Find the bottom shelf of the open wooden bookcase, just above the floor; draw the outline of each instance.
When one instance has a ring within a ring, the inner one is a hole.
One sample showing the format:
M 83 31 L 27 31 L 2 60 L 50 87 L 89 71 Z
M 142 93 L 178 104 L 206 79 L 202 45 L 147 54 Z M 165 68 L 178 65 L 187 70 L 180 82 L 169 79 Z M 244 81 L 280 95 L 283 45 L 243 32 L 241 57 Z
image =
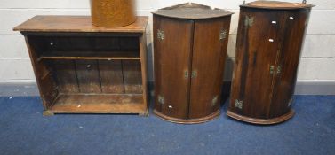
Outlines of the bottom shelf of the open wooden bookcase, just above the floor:
M 54 113 L 138 113 L 147 116 L 147 105 L 139 95 L 60 95 L 44 115 Z

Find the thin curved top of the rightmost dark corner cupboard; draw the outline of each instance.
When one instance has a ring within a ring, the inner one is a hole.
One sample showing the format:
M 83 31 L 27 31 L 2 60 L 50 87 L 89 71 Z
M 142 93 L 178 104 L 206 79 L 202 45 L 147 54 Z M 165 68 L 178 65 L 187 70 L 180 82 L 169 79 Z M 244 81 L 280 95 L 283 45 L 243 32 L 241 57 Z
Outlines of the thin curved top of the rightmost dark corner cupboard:
M 259 9 L 274 9 L 274 10 L 294 10 L 311 8 L 315 5 L 304 3 L 289 3 L 279 1 L 255 1 L 248 4 L 243 4 L 241 7 L 259 8 Z

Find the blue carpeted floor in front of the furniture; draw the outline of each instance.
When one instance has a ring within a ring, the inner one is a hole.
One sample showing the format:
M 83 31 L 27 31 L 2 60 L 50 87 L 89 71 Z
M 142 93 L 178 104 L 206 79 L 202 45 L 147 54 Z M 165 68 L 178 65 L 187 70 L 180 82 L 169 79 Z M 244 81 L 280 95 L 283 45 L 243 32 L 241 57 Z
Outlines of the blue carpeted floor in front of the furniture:
M 335 96 L 296 96 L 293 107 L 296 115 L 274 126 L 225 114 L 208 123 L 179 125 L 153 114 L 44 117 L 39 97 L 0 97 L 0 154 L 334 155 Z

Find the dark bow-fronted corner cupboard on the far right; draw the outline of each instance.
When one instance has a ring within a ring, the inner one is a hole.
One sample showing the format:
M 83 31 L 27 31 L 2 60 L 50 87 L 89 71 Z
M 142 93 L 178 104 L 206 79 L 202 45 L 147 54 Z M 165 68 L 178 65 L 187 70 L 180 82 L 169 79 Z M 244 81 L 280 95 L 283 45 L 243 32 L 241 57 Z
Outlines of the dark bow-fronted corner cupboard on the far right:
M 275 2 L 259 3 L 267 6 Z M 227 115 L 256 124 L 279 123 L 294 113 L 291 98 L 310 8 L 295 4 L 286 10 L 251 6 L 241 6 Z

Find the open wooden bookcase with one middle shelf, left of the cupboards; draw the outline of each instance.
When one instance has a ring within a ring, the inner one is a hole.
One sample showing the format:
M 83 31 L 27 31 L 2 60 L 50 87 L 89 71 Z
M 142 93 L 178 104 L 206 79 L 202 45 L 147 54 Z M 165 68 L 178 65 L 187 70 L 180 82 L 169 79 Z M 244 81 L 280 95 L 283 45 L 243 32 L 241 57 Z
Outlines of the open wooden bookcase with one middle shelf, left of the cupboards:
M 36 16 L 25 36 L 44 115 L 148 115 L 147 17 L 127 27 L 94 27 L 85 16 Z

